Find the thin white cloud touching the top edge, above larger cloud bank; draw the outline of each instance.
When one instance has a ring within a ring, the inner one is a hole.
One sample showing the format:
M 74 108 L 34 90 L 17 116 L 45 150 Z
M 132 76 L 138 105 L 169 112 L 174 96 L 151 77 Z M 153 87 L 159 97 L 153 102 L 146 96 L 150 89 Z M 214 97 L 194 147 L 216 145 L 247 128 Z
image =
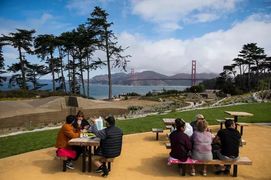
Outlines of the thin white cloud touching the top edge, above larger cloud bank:
M 132 13 L 143 19 L 163 22 L 208 22 L 235 10 L 235 4 L 243 0 L 131 0 Z

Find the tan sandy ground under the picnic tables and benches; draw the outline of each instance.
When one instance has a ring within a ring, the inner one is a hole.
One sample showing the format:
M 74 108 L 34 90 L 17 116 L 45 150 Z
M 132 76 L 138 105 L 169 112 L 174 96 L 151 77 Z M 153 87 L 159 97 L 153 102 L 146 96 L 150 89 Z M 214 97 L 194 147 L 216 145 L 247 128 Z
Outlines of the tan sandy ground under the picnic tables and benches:
M 210 126 L 209 129 L 212 129 L 213 133 L 217 132 L 219 125 Z M 251 159 L 253 165 L 239 165 L 237 178 L 232 176 L 233 168 L 230 175 L 215 175 L 216 170 L 212 165 L 207 167 L 206 177 L 199 173 L 202 165 L 195 165 L 195 177 L 188 174 L 190 167 L 186 170 L 186 176 L 182 177 L 176 164 L 167 165 L 170 149 L 165 147 L 165 143 L 168 142 L 165 134 L 168 131 L 159 134 L 158 141 L 155 140 L 155 133 L 152 132 L 124 136 L 122 153 L 111 164 L 111 174 L 107 179 L 271 179 L 270 127 L 253 124 L 244 127 L 243 139 L 247 141 L 247 145 L 240 148 L 240 156 Z M 62 172 L 62 161 L 53 160 L 54 155 L 55 148 L 48 148 L 0 159 L 0 179 L 102 179 L 101 173 L 82 173 L 82 157 L 73 162 L 75 169 Z M 95 169 L 92 165 L 92 170 Z M 89 176 L 91 177 L 88 178 Z

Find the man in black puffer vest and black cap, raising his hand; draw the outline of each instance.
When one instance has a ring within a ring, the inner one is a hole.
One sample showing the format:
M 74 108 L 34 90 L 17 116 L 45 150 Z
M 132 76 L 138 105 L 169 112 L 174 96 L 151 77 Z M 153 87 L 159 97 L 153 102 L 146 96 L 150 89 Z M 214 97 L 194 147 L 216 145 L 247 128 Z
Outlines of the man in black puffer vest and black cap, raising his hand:
M 122 136 L 123 132 L 120 128 L 115 127 L 115 119 L 110 116 L 105 119 L 106 127 L 105 129 L 98 130 L 95 119 L 91 118 L 93 125 L 93 134 L 101 138 L 100 146 L 94 152 L 91 157 L 92 162 L 98 167 L 95 173 L 104 172 L 101 176 L 107 177 L 111 172 L 107 169 L 100 160 L 101 158 L 115 158 L 120 155 L 122 147 Z

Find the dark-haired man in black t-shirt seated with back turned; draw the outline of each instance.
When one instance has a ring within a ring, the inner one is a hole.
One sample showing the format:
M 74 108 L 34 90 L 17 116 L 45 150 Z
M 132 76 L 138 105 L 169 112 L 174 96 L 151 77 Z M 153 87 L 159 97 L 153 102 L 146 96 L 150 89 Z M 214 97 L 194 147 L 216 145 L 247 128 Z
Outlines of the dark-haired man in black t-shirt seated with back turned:
M 242 142 L 241 134 L 235 129 L 235 123 L 232 120 L 226 120 L 226 129 L 221 129 L 217 132 L 213 139 L 214 143 L 220 139 L 221 150 L 216 150 L 217 158 L 222 161 L 237 161 L 239 159 L 239 143 Z M 216 174 L 230 173 L 231 165 L 226 165 L 226 169 L 222 171 L 219 164 L 215 164 Z

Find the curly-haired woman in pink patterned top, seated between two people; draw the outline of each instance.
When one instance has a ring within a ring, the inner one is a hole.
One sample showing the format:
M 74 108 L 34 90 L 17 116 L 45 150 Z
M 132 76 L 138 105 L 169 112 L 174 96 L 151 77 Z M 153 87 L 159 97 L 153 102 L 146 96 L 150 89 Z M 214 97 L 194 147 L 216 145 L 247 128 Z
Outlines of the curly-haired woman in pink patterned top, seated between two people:
M 208 122 L 205 120 L 198 120 L 197 122 L 197 131 L 194 131 L 192 136 L 190 137 L 193 141 L 193 150 L 192 150 L 192 159 L 197 161 L 211 161 L 213 159 L 212 155 L 212 146 L 211 143 L 213 141 L 212 133 L 207 131 Z M 195 167 L 194 164 L 191 164 L 192 171 L 190 175 L 195 175 Z M 206 168 L 207 164 L 204 164 L 202 174 L 206 176 Z

